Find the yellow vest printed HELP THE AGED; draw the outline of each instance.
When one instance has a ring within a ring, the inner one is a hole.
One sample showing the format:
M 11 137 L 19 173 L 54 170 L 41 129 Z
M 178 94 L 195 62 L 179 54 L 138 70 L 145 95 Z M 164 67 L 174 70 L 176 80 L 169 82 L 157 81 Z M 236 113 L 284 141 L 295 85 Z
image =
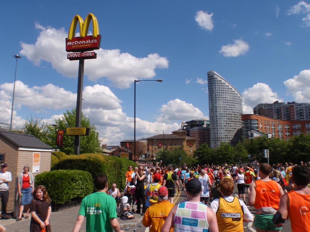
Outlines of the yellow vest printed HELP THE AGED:
M 219 199 L 216 213 L 218 231 L 222 232 L 243 232 L 244 211 L 236 196 L 232 202 L 226 201 L 223 197 Z

